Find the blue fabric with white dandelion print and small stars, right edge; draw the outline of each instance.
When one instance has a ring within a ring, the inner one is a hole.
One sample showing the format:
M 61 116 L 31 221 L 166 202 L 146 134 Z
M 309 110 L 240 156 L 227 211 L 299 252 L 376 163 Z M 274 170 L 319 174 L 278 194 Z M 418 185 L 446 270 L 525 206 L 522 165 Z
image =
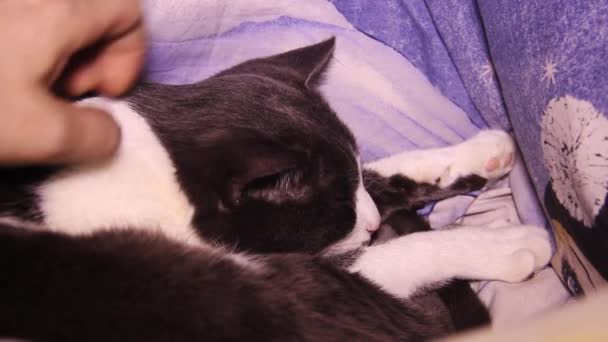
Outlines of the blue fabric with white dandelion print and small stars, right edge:
M 608 3 L 479 1 L 528 170 L 576 294 L 608 277 Z M 599 274 L 598 274 L 599 272 Z

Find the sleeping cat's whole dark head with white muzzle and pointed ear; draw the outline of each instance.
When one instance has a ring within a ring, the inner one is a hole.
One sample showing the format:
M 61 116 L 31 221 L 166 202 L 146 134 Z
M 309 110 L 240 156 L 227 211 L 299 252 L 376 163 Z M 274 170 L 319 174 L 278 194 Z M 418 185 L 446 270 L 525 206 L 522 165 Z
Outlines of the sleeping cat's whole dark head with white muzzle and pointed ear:
M 255 252 L 340 251 L 378 227 L 355 139 L 318 91 L 333 49 L 332 38 L 132 95 L 168 147 L 204 239 Z

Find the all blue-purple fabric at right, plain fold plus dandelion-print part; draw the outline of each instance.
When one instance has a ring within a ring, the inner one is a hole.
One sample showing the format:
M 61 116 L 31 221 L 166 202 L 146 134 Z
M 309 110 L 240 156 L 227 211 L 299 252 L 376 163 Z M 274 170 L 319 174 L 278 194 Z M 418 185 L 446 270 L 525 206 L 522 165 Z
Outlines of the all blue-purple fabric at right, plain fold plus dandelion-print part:
M 411 60 L 473 122 L 514 130 L 531 177 L 510 177 L 522 220 L 546 222 L 540 198 L 556 232 L 553 264 L 564 283 L 575 294 L 604 283 L 608 3 L 331 2 Z

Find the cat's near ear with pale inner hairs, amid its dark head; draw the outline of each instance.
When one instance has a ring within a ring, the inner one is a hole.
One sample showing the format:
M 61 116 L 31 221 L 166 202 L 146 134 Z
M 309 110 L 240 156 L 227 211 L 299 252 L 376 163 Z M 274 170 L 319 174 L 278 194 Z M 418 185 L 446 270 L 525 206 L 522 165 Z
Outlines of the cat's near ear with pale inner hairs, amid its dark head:
M 232 206 L 239 206 L 247 200 L 274 204 L 303 200 L 312 192 L 304 168 L 295 152 L 255 148 L 241 155 L 233 168 L 236 172 L 229 180 L 228 201 Z

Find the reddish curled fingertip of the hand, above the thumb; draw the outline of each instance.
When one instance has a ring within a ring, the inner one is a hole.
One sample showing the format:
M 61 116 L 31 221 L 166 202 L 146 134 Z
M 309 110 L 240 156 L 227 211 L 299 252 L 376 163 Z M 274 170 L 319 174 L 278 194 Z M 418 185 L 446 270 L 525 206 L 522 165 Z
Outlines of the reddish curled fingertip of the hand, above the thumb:
M 96 90 L 117 96 L 128 90 L 144 64 L 143 31 L 138 30 L 100 47 L 82 58 L 63 77 L 63 89 L 72 96 Z

